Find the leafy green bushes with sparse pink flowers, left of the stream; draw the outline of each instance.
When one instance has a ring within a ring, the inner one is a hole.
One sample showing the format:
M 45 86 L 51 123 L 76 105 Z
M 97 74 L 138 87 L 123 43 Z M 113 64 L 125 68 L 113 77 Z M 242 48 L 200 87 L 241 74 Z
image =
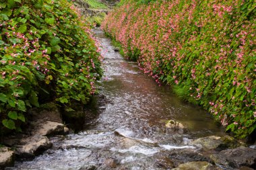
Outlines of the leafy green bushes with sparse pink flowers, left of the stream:
M 66 0 L 0 1 L 0 119 L 20 130 L 26 111 L 55 100 L 72 110 L 102 71 L 90 28 Z M 3 128 L 1 128 L 4 130 Z

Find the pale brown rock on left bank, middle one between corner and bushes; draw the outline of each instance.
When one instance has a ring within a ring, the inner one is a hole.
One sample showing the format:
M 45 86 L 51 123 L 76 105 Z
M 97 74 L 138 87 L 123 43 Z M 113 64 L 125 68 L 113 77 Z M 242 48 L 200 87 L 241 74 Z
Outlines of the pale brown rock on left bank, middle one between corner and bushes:
M 24 138 L 20 142 L 21 144 L 16 146 L 16 154 L 26 158 L 34 157 L 53 145 L 46 136 L 41 135 Z

